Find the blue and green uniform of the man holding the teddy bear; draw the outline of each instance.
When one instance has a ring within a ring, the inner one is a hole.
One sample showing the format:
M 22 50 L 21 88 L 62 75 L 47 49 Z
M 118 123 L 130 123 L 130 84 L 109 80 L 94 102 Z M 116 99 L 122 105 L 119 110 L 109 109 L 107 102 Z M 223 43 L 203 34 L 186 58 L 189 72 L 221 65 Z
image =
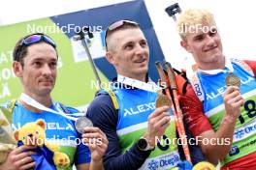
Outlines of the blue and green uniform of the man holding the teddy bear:
M 10 103 L 7 102 L 3 106 L 8 108 Z M 66 107 L 59 102 L 54 102 L 49 108 L 55 111 L 61 109 L 61 111 L 67 115 L 79 112 L 77 109 Z M 88 147 L 78 140 L 81 136 L 75 128 L 74 121 L 47 111 L 41 113 L 31 112 L 16 101 L 12 112 L 12 127 L 14 130 L 21 128 L 26 123 L 36 122 L 39 119 L 43 119 L 47 124 L 47 141 L 57 142 L 59 150 L 69 156 L 71 163 L 70 166 L 65 169 L 71 170 L 74 163 L 78 165 L 90 162 L 90 151 Z

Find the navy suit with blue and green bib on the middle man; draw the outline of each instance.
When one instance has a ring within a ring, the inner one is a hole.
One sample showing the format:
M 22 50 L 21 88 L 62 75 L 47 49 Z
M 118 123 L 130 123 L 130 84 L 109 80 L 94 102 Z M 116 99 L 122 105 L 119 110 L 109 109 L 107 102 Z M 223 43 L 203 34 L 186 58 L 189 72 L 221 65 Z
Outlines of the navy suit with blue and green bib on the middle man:
M 94 126 L 101 128 L 109 139 L 109 147 L 104 156 L 105 168 L 182 169 L 181 164 L 184 163 L 179 156 L 177 144 L 172 141 L 176 139 L 173 115 L 162 142 L 158 142 L 153 151 L 143 152 L 137 147 L 138 140 L 147 128 L 147 118 L 155 110 L 157 93 L 115 87 L 112 87 L 112 92 L 117 99 L 118 110 L 114 108 L 111 97 L 105 91 L 98 94 L 87 110 L 87 117 Z M 170 145 L 165 142 L 169 142 Z M 195 156 L 200 154 L 197 153 Z M 200 156 L 198 161 L 204 159 Z

